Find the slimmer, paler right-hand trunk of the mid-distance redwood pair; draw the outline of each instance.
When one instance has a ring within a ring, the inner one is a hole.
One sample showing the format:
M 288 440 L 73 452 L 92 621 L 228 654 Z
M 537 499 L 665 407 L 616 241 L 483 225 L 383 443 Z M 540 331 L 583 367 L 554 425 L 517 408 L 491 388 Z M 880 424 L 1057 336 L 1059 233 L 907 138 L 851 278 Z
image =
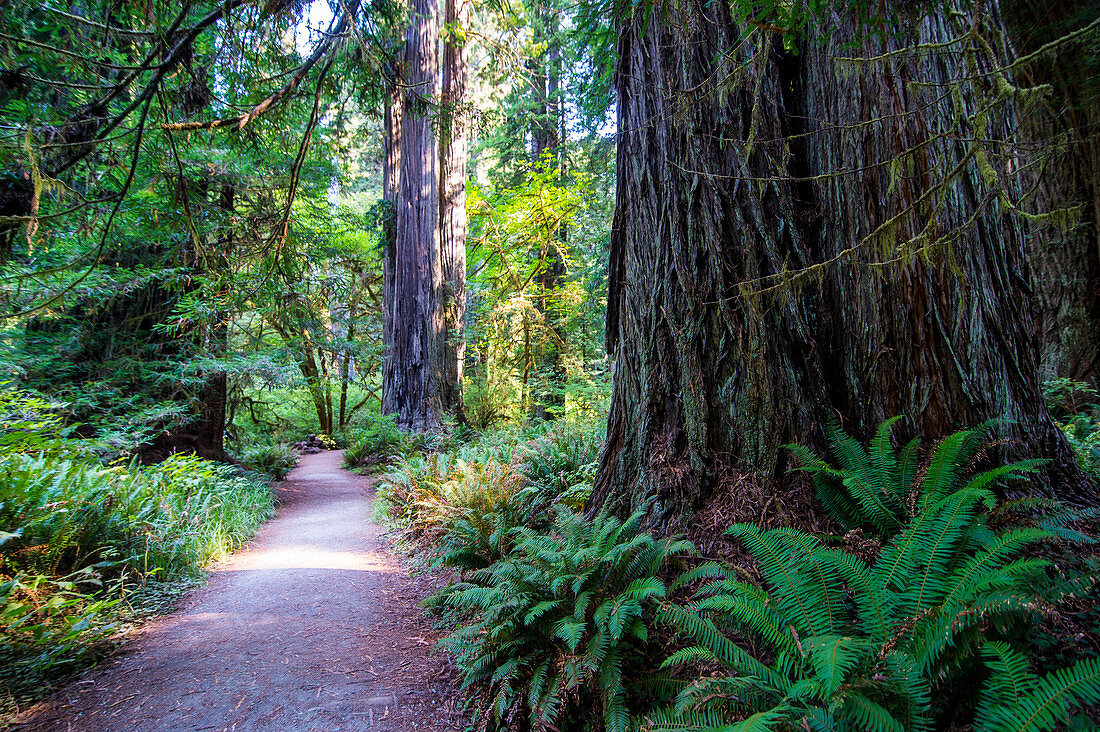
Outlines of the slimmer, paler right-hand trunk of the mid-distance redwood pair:
M 446 0 L 440 135 L 439 232 L 443 264 L 443 408 L 464 420 L 466 337 L 466 42 L 469 0 Z

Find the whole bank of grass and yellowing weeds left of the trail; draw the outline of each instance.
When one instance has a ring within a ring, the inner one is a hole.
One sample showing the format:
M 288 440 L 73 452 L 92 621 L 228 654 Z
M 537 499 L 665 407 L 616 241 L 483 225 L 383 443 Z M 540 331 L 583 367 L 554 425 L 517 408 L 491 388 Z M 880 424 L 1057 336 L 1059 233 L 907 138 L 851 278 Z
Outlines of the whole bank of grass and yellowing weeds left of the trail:
M 0 721 L 94 663 L 135 608 L 195 582 L 274 506 L 267 482 L 194 456 L 103 466 L 57 438 L 41 404 L 22 407 L 0 431 Z

